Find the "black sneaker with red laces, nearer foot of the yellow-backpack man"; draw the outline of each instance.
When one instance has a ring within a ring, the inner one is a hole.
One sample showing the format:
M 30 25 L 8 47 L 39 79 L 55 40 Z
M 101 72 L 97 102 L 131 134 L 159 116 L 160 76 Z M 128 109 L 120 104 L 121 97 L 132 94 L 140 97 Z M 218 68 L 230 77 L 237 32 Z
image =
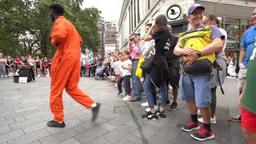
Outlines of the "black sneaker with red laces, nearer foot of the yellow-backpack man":
M 194 134 L 191 134 L 191 137 L 198 140 L 198 141 L 205 141 L 207 139 L 213 139 L 214 138 L 214 131 L 213 130 L 206 130 L 204 126 L 201 126 L 201 128 L 198 130 L 198 132 L 195 132 Z

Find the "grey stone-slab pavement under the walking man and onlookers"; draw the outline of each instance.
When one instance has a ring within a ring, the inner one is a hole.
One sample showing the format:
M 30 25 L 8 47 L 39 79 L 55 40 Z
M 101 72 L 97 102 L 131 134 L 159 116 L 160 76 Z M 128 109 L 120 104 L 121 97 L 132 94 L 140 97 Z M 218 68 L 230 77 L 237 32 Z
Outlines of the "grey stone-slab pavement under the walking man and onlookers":
M 198 142 L 181 129 L 190 119 L 186 102 L 178 102 L 174 112 L 166 111 L 167 118 L 144 120 L 141 114 L 146 108 L 141 103 L 146 102 L 145 96 L 142 102 L 123 102 L 113 83 L 81 78 L 82 90 L 102 102 L 97 121 L 90 122 L 91 111 L 63 92 L 66 127 L 50 128 L 46 126 L 53 118 L 49 108 L 50 78 L 36 78 L 30 83 L 0 78 L 0 144 L 241 144 L 244 138 L 240 123 L 227 120 L 240 112 L 237 83 L 238 79 L 226 79 L 225 95 L 218 88 L 217 124 L 212 125 L 215 138 Z M 123 114 L 114 114 L 114 108 Z

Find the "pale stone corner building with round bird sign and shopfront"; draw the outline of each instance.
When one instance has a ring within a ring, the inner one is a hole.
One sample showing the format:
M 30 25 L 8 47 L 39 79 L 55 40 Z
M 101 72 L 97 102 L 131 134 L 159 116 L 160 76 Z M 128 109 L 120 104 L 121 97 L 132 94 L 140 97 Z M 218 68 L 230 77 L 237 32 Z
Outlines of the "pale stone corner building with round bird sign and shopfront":
M 186 20 L 187 10 L 194 3 L 201 3 L 204 15 L 215 14 L 220 20 L 219 27 L 226 30 L 228 42 L 226 55 L 238 55 L 243 33 L 252 24 L 255 0 L 124 0 L 118 22 L 120 50 L 126 50 L 131 34 L 145 36 L 145 26 L 159 14 L 166 14 L 175 35 L 190 28 Z

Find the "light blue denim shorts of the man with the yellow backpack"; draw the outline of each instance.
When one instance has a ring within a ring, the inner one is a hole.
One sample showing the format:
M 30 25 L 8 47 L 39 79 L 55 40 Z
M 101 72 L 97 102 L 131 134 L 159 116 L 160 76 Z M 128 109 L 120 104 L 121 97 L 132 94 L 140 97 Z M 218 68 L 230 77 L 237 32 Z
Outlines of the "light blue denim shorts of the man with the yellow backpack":
M 195 101 L 198 108 L 210 107 L 211 74 L 186 75 L 181 74 L 179 80 L 179 95 L 182 101 Z

